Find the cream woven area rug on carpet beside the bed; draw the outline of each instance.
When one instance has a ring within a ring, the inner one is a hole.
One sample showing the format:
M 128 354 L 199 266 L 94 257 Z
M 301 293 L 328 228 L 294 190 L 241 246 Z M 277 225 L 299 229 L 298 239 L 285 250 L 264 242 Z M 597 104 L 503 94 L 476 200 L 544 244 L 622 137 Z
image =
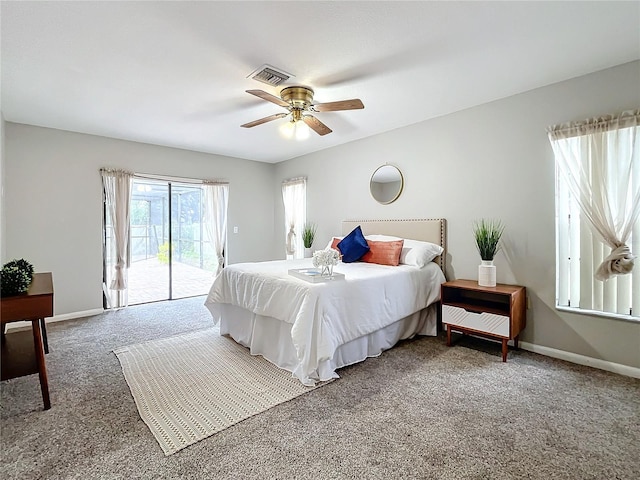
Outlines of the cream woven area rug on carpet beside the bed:
M 216 328 L 114 353 L 140 417 L 165 455 L 315 388 Z

